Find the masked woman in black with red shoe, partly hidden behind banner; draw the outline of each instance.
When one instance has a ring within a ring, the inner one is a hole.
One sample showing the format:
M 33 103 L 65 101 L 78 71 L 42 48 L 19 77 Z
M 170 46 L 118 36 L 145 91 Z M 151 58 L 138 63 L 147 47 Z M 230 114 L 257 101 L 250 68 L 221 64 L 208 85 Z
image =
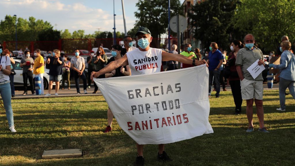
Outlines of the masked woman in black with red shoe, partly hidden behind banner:
M 108 65 L 112 61 L 116 61 L 122 58 L 122 56 L 124 56 L 126 53 L 127 53 L 126 48 L 122 48 L 120 45 L 117 45 L 117 44 L 113 45 L 112 46 L 113 56 L 108 60 L 106 65 Z M 127 65 L 127 66 L 120 66 L 117 69 L 113 70 L 112 72 L 106 73 L 105 78 L 122 77 L 122 76 L 130 76 L 130 75 L 131 75 L 130 67 L 129 65 Z M 114 118 L 114 114 L 112 113 L 110 108 L 108 108 L 107 114 L 108 114 L 108 125 L 106 126 L 104 133 L 110 132 L 112 130 L 112 122 Z

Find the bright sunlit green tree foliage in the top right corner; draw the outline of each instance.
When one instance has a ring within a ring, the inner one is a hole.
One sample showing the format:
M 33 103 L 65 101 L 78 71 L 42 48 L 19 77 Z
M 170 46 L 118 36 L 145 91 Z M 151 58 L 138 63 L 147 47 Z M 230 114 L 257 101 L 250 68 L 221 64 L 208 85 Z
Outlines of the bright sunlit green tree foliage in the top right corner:
M 241 0 L 233 20 L 236 28 L 252 33 L 264 51 L 276 51 L 283 35 L 294 42 L 294 0 Z

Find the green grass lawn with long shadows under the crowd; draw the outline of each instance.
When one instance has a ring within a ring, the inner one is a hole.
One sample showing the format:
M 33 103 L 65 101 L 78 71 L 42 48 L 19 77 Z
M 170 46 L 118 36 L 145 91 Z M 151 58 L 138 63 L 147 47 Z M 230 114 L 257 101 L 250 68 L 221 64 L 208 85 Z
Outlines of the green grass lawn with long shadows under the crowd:
M 214 96 L 214 94 L 212 94 Z M 146 145 L 145 165 L 261 166 L 295 165 L 295 101 L 286 96 L 286 111 L 279 108 L 278 91 L 265 91 L 264 121 L 270 133 L 258 132 L 254 110 L 253 133 L 248 126 L 245 101 L 242 115 L 233 115 L 230 91 L 211 98 L 209 121 L 214 133 L 167 144 L 165 151 L 172 162 L 157 162 L 157 145 Z M 106 127 L 107 104 L 102 96 L 57 97 L 12 100 L 14 124 L 12 134 L 4 111 L 0 113 L 0 165 L 133 165 L 135 142 L 114 121 L 114 130 Z M 82 148 L 80 158 L 48 159 L 46 149 Z

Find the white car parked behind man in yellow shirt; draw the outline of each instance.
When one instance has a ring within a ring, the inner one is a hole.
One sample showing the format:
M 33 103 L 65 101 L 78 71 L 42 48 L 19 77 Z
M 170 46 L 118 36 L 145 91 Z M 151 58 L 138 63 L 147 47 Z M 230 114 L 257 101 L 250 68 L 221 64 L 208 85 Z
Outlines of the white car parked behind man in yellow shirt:
M 24 80 L 22 77 L 22 68 L 20 67 L 20 59 L 14 59 L 15 64 L 11 64 L 12 68 L 15 71 L 14 75 L 14 86 L 24 86 Z M 49 69 L 45 69 L 45 73 L 43 74 L 43 84 L 44 84 L 44 89 L 48 88 L 48 83 L 49 83 Z M 62 81 L 60 81 L 60 85 L 62 84 Z M 28 85 L 30 85 L 30 82 L 28 81 Z M 55 85 L 55 82 L 53 82 L 53 85 Z

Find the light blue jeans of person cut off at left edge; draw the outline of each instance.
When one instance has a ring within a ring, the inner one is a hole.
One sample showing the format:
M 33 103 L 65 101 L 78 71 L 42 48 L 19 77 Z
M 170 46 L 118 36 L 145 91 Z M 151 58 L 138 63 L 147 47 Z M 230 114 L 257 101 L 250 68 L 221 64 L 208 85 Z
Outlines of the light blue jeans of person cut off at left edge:
M 9 127 L 13 127 L 13 112 L 12 112 L 12 107 L 11 107 L 11 89 L 10 89 L 10 84 L 2 84 L 0 85 L 0 93 L 2 96 L 4 108 L 6 111 L 6 118 L 8 120 Z

